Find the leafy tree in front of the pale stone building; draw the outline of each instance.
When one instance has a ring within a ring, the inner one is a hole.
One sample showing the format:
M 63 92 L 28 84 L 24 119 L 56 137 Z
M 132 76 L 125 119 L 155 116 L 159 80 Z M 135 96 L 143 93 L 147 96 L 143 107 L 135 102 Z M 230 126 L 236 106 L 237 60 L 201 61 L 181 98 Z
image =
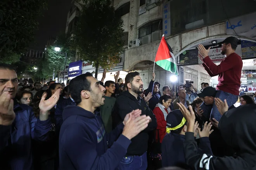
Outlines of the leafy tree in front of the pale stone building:
M 74 30 L 74 46 L 81 59 L 92 62 L 97 78 L 99 66 L 110 69 L 123 52 L 123 20 L 115 16 L 111 1 L 93 0 L 85 5 Z

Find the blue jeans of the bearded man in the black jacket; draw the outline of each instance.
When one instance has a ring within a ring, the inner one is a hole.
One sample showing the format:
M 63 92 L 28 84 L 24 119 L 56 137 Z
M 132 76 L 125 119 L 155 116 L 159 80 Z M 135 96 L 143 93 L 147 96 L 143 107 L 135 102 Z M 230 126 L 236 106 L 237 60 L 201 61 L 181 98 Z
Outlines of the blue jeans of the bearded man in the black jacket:
M 141 156 L 123 157 L 118 165 L 118 170 L 146 170 L 147 169 L 147 152 Z

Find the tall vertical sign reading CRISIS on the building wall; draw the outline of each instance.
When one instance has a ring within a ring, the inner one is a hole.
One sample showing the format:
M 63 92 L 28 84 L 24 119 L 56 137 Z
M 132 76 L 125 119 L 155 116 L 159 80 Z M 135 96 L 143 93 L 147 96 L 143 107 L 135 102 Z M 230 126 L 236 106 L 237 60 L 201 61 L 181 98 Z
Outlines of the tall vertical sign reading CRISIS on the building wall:
M 171 34 L 170 1 L 163 4 L 163 34 L 165 37 Z

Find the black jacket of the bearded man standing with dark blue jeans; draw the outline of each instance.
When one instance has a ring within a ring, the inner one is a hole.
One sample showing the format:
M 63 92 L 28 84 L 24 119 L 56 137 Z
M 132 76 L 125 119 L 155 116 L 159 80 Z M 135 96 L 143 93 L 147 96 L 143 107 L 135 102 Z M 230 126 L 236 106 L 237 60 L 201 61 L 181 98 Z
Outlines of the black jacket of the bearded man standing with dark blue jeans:
M 144 99 L 141 99 L 138 95 L 137 99 L 128 91 L 121 93 L 116 100 L 112 111 L 113 127 L 116 127 L 119 123 L 123 122 L 126 114 L 132 110 L 140 109 L 141 115 L 150 116 L 152 121 L 147 128 L 140 132 L 137 136 L 131 139 L 131 145 L 129 146 L 126 156 L 143 155 L 147 151 L 147 145 L 149 140 L 149 132 L 156 129 L 156 116 L 152 110 L 149 109 Z

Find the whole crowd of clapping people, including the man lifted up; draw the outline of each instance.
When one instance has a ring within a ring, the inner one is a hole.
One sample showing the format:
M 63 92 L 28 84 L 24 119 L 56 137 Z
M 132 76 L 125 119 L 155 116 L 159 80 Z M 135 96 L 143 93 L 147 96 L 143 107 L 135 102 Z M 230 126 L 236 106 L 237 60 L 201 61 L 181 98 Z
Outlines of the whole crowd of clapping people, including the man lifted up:
M 66 85 L 28 85 L 1 64 L 0 169 L 256 169 L 256 105 L 239 93 L 237 42 L 221 42 L 220 65 L 199 44 L 204 68 L 219 83 L 197 90 L 187 82 L 176 95 L 168 85 L 160 92 L 155 73 L 146 90 L 137 71 L 125 80 L 118 71 L 105 83 L 106 70 L 101 81 L 85 73 Z

